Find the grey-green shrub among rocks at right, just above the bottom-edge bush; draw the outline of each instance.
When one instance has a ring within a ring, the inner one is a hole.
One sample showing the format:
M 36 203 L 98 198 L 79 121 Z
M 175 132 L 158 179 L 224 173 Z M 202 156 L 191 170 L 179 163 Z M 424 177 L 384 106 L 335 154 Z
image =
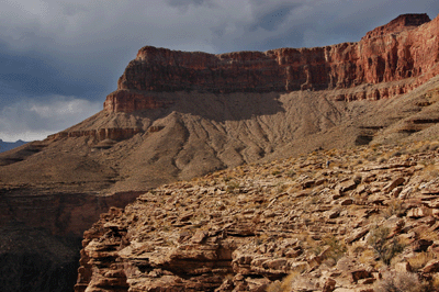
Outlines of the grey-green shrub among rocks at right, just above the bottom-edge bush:
M 371 228 L 368 238 L 368 244 L 372 246 L 380 259 L 387 266 L 391 263 L 391 260 L 405 248 L 397 238 L 387 240 L 389 234 L 390 229 L 387 227 L 374 226 Z

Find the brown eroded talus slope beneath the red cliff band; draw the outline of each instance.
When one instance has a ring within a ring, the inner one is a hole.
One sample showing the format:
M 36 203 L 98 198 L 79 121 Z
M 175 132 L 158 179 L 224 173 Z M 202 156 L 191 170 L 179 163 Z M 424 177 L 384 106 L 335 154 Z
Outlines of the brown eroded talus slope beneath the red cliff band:
M 432 116 L 437 88 L 435 78 L 398 99 L 354 102 L 334 100 L 335 91 L 161 93 L 162 99 L 175 100 L 171 106 L 131 114 L 101 112 L 66 131 L 137 128 L 132 138 L 54 136 L 0 155 L 2 161 L 15 161 L 0 168 L 0 177 L 12 186 L 50 182 L 46 187 L 64 192 L 111 193 L 317 148 L 395 142 L 414 133 L 421 138 L 423 131 L 439 120 L 418 122 L 412 131 L 402 127 L 423 121 L 417 116 Z

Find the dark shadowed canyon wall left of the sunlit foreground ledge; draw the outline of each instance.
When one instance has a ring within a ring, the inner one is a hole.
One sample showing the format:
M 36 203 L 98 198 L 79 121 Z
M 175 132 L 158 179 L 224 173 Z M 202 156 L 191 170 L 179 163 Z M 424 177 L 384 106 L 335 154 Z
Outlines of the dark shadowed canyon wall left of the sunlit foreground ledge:
M 125 206 L 138 194 L 0 188 L 1 291 L 71 291 L 83 231 L 110 206 Z

